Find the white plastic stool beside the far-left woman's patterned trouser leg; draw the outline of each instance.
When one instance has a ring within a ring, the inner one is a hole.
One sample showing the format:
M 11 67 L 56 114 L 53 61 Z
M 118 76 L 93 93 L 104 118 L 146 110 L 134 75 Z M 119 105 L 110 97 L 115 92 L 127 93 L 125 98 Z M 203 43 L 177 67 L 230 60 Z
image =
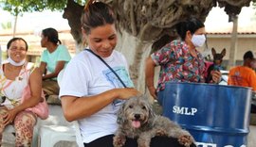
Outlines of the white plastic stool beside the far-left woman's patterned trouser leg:
M 72 126 L 42 125 L 38 138 L 39 146 L 53 147 L 61 140 L 76 141 L 76 132 Z

